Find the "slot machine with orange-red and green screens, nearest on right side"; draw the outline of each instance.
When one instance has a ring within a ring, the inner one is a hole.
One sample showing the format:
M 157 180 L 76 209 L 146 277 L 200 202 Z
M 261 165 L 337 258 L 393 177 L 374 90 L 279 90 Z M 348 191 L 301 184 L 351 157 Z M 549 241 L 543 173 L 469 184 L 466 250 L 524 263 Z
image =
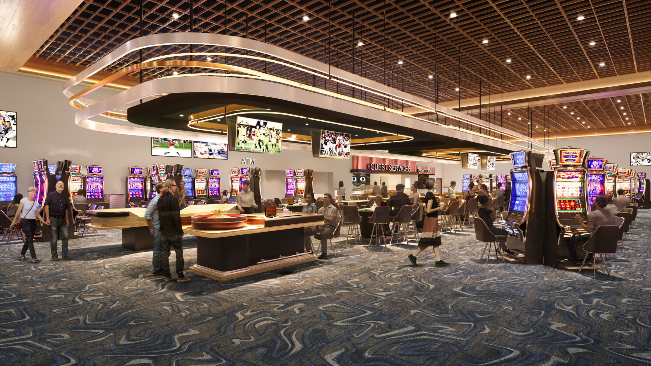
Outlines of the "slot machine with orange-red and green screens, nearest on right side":
M 587 196 L 588 154 L 587 150 L 571 147 L 554 150 L 556 169 L 553 179 L 548 178 L 546 190 L 545 264 L 550 267 L 579 270 L 579 266 L 570 261 L 567 246 L 561 244 L 586 234 L 577 218 L 585 219 L 591 211 Z

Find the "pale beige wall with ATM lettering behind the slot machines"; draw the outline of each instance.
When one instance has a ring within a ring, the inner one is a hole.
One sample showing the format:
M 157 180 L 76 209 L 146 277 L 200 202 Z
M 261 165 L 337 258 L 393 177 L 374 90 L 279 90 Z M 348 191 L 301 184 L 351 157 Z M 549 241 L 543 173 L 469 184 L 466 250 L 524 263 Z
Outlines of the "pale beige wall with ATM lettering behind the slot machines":
M 152 157 L 149 137 L 90 131 L 74 122 L 77 111 L 62 94 L 62 83 L 0 72 L 0 109 L 18 112 L 18 148 L 0 148 L 0 161 L 16 163 L 18 191 L 25 194 L 34 184 L 31 162 L 46 158 L 50 163 L 70 159 L 74 164 L 99 164 L 105 168 L 105 194 L 124 194 L 129 166 L 184 164 L 187 168 L 221 170 L 222 189 L 229 189 L 228 169 L 245 166 L 242 158 L 255 158 L 262 168 L 262 196 L 283 197 L 283 185 L 267 170 L 313 169 L 315 190 L 334 192 L 339 181 L 350 189 L 350 159 L 320 159 L 311 151 L 283 150 L 280 154 L 229 152 L 228 160 L 182 157 Z M 99 94 L 112 94 L 100 90 Z M 98 98 L 100 96 L 97 96 Z M 268 181 L 267 181 L 268 180 Z M 224 183 L 226 183 L 224 185 Z M 282 190 L 281 188 L 282 187 Z

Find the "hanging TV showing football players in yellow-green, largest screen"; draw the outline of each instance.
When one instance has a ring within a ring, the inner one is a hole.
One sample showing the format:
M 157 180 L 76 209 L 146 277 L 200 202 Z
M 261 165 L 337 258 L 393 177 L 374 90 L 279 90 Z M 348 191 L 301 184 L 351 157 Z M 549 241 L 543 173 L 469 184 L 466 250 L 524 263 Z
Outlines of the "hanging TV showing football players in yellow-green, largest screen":
M 282 140 L 283 124 L 238 116 L 235 150 L 279 153 Z

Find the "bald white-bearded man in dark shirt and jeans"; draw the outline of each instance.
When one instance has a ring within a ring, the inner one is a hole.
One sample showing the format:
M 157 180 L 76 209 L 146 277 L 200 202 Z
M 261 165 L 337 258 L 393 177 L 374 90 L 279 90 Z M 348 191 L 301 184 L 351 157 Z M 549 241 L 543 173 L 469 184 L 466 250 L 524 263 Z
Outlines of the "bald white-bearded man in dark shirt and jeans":
M 68 197 L 63 194 L 63 182 L 58 181 L 56 190 L 48 194 L 45 199 L 46 225 L 49 226 L 49 250 L 52 260 L 58 261 L 57 238 L 61 239 L 61 257 L 70 261 L 68 257 Z

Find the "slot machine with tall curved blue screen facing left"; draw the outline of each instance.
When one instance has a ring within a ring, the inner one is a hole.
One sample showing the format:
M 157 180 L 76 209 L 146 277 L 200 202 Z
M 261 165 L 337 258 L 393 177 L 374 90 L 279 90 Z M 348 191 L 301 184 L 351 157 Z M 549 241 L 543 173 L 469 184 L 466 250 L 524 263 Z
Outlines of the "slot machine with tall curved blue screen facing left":
M 505 220 L 506 250 L 502 257 L 507 263 L 542 263 L 543 202 L 541 153 L 514 151 L 509 154 L 512 169 L 510 176 L 511 199 Z

